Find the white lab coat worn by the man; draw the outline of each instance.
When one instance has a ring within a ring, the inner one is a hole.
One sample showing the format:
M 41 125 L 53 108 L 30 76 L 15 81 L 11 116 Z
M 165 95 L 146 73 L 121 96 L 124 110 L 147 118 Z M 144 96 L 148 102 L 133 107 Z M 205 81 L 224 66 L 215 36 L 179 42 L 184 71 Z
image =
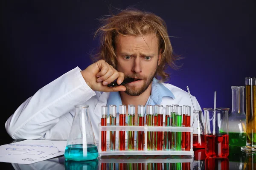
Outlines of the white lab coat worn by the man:
M 50 82 L 29 97 L 6 121 L 7 133 L 12 139 L 67 139 L 73 116 L 74 105 L 89 105 L 89 114 L 95 139 L 99 139 L 101 106 L 107 105 L 109 93 L 93 91 L 84 81 L 81 69 L 76 67 Z M 161 105 L 189 105 L 189 94 L 171 84 L 163 83 L 175 96 L 163 97 Z M 192 96 L 196 110 L 201 110 L 197 99 Z M 191 114 L 191 124 L 193 114 Z M 118 123 L 118 120 L 117 120 Z M 197 127 L 197 125 L 195 125 Z

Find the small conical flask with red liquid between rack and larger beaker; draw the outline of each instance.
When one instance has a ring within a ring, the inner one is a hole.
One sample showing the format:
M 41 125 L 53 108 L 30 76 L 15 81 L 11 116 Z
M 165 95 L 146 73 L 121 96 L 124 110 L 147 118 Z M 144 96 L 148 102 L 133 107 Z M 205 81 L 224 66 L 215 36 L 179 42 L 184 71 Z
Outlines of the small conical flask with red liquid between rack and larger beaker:
M 202 122 L 202 117 L 204 116 L 202 111 L 193 111 L 193 148 L 204 148 L 204 123 Z

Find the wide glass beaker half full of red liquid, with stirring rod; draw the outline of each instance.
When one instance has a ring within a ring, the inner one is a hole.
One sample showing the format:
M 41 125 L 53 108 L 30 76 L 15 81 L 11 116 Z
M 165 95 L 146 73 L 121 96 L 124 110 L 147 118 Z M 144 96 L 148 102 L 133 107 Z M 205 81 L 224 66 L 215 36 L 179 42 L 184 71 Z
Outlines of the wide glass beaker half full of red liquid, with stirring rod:
M 228 140 L 229 108 L 204 108 L 205 154 L 212 158 L 226 158 L 229 154 Z

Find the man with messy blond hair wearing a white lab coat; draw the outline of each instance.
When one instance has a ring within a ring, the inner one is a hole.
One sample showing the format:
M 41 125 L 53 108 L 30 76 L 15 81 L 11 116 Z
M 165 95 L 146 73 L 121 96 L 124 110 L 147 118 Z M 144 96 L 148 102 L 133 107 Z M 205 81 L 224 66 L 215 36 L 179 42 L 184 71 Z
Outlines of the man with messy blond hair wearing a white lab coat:
M 103 105 L 189 105 L 189 94 L 162 83 L 167 65 L 176 68 L 165 22 L 151 13 L 124 10 L 105 19 L 98 61 L 73 70 L 41 88 L 6 121 L 13 139 L 67 139 L 74 105 L 89 105 L 95 138 Z M 158 81 L 154 77 L 161 77 Z M 125 77 L 137 81 L 120 85 Z M 117 79 L 120 86 L 107 85 Z M 196 110 L 201 110 L 192 97 Z M 193 115 L 191 116 L 193 119 Z M 137 117 L 135 122 L 137 122 Z

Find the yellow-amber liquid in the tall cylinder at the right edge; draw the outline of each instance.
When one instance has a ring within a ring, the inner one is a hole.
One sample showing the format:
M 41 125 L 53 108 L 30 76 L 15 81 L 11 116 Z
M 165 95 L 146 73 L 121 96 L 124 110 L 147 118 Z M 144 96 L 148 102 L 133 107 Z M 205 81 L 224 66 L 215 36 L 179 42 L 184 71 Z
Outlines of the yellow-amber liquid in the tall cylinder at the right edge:
M 246 85 L 246 125 L 247 144 L 256 146 L 256 85 Z

